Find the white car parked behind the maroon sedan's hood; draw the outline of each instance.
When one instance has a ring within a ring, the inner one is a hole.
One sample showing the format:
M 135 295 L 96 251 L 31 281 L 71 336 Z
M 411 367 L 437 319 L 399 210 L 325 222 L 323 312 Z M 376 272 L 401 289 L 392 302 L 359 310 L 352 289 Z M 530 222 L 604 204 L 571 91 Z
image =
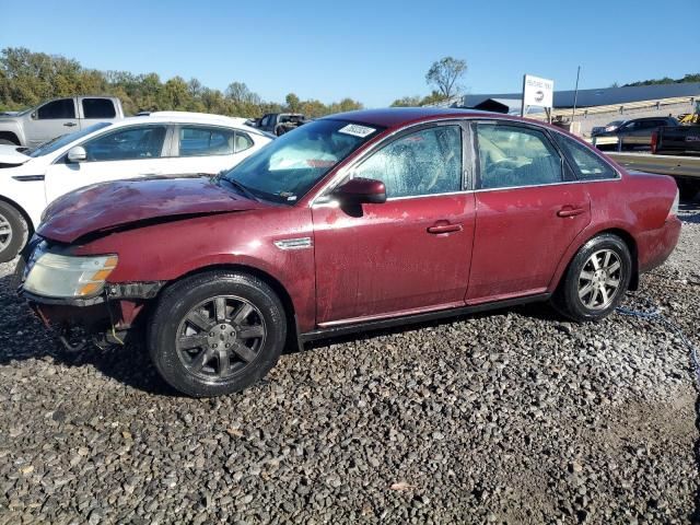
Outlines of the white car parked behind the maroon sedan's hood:
M 241 118 L 159 112 L 95 124 L 32 150 L 0 145 L 0 262 L 15 257 L 61 195 L 124 178 L 215 175 L 272 139 Z

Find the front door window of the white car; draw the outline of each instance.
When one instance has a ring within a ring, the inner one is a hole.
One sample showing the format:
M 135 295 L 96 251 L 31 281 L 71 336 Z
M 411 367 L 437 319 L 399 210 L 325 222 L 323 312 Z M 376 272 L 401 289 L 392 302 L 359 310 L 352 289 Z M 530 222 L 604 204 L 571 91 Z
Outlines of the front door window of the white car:
M 165 130 L 165 126 L 141 126 L 105 133 L 83 144 L 88 162 L 158 159 Z

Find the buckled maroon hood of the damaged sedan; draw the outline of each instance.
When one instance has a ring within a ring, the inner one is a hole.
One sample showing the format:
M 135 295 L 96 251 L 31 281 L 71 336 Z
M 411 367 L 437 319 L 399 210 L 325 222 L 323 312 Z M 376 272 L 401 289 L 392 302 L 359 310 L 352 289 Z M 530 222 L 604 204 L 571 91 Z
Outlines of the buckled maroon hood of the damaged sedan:
M 60 243 L 72 243 L 91 233 L 140 223 L 269 206 L 205 177 L 117 180 L 88 186 L 58 198 L 44 212 L 37 233 Z

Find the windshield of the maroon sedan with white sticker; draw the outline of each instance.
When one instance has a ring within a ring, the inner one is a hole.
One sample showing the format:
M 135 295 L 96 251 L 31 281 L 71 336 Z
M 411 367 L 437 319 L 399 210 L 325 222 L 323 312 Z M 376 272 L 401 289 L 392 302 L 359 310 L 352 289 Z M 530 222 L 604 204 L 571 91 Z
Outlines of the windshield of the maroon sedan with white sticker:
M 345 120 L 315 120 L 282 135 L 223 178 L 261 199 L 291 205 L 382 129 Z

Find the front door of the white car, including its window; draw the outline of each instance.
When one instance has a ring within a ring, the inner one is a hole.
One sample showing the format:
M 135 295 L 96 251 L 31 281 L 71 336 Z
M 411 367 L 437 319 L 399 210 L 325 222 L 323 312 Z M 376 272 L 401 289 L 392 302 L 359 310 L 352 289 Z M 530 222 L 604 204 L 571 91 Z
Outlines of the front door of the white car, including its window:
M 166 135 L 164 124 L 135 125 L 85 141 L 84 162 L 70 162 L 66 153 L 47 170 L 47 202 L 91 184 L 160 175 Z

